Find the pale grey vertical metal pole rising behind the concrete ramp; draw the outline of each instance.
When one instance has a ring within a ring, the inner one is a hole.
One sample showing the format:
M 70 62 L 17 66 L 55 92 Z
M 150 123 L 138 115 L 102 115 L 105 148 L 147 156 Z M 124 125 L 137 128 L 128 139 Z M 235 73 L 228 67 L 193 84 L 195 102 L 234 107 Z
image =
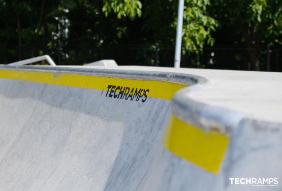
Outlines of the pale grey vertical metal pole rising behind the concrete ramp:
M 183 10 L 184 10 L 184 0 L 179 0 L 179 2 L 178 2 L 178 15 L 177 15 L 175 54 L 174 54 L 174 68 L 180 68 Z

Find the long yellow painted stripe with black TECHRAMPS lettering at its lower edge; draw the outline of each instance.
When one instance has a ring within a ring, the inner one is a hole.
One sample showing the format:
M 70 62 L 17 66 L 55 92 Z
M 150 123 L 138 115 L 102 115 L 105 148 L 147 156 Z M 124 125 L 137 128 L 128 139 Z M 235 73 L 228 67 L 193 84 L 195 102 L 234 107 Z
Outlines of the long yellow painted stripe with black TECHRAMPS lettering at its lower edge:
M 108 85 L 149 89 L 148 97 L 171 100 L 173 94 L 186 85 L 156 80 L 137 80 L 81 74 L 0 70 L 0 78 L 42 82 L 56 85 L 108 90 Z

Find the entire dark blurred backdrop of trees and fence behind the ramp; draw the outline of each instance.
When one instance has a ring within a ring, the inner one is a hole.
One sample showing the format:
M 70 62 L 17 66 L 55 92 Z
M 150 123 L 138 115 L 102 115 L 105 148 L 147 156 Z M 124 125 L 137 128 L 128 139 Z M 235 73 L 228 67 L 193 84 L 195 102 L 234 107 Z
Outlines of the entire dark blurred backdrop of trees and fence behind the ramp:
M 178 2 L 0 0 L 0 63 L 173 66 Z M 280 0 L 185 0 L 183 67 L 282 71 Z M 268 58 L 269 59 L 269 58 Z

